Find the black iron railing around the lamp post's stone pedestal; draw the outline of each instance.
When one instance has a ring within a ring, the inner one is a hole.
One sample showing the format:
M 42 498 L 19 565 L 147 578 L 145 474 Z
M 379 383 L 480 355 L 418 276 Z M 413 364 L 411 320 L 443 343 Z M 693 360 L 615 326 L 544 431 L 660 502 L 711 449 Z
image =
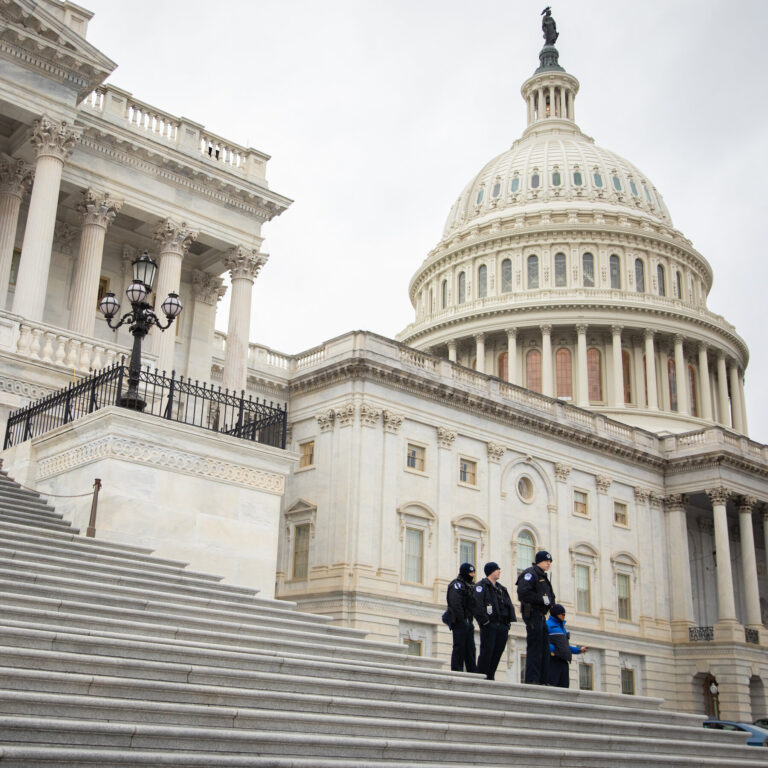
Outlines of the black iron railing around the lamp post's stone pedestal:
M 108 405 L 120 405 L 127 386 L 128 366 L 122 361 L 13 411 L 3 447 L 18 445 Z M 286 407 L 183 376 L 176 378 L 173 373 L 169 378 L 148 367 L 141 371 L 139 394 L 146 402 L 144 413 L 285 448 Z

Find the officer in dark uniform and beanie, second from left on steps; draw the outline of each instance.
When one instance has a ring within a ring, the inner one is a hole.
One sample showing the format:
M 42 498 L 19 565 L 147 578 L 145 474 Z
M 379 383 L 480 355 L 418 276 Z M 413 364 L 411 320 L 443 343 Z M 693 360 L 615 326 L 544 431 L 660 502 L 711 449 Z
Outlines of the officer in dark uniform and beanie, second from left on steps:
M 480 625 L 480 656 L 477 671 L 493 680 L 507 644 L 509 625 L 517 621 L 507 588 L 499 584 L 498 563 L 486 563 L 485 578 L 475 587 L 475 618 Z

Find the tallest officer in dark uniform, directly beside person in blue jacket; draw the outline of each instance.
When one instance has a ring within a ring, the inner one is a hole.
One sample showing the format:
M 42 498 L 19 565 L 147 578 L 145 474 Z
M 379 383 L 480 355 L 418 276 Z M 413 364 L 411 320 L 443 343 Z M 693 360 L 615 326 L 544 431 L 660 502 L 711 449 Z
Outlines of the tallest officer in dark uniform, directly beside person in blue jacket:
M 549 632 L 547 613 L 555 604 L 555 593 L 547 578 L 552 555 L 536 553 L 536 562 L 517 577 L 517 597 L 525 621 L 527 638 L 525 682 L 549 685 Z

